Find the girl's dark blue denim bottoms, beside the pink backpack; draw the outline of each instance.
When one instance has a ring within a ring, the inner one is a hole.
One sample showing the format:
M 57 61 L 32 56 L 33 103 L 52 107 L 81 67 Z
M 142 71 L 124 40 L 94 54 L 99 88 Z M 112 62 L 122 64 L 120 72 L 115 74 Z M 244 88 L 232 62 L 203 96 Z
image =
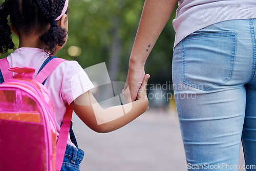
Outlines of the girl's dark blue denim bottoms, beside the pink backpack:
M 81 149 L 67 145 L 61 171 L 79 171 L 83 156 L 84 152 Z

